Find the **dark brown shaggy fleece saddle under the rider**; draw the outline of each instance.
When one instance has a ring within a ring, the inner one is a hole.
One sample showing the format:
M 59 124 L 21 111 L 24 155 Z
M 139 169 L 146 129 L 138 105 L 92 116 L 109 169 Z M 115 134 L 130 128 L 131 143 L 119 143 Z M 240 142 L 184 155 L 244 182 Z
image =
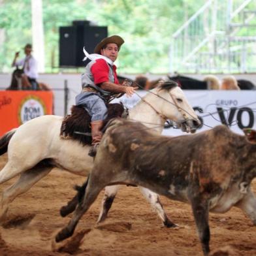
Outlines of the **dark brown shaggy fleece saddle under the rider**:
M 122 103 L 109 103 L 106 119 L 103 128 L 112 118 L 121 118 L 125 112 Z M 62 139 L 77 140 L 83 146 L 91 145 L 91 116 L 82 106 L 71 107 L 71 114 L 65 116 L 61 123 L 60 136 Z

